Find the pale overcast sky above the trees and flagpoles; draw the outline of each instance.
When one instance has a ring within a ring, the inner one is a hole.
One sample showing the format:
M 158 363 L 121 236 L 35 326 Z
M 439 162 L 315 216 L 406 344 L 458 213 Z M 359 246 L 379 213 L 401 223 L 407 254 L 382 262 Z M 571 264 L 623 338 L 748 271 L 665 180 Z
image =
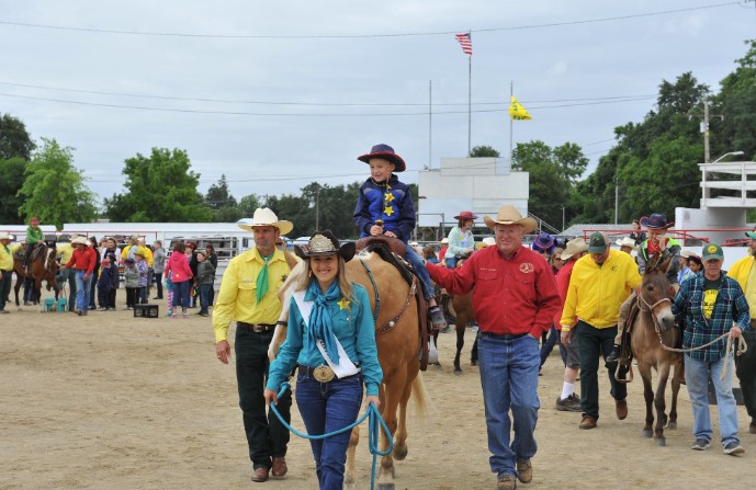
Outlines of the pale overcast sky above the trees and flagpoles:
M 35 139 L 74 147 L 100 198 L 123 191 L 124 159 L 153 147 L 185 149 L 201 192 L 225 174 L 237 200 L 364 180 L 357 157 L 377 143 L 416 182 L 440 158 L 466 156 L 469 65 L 454 38 L 466 31 L 472 145 L 508 156 L 514 83 L 533 117 L 515 122 L 515 144 L 576 143 L 593 170 L 614 127 L 653 109 L 663 80 L 692 71 L 718 92 L 756 37 L 756 10 L 723 0 L 0 0 L 0 112 Z

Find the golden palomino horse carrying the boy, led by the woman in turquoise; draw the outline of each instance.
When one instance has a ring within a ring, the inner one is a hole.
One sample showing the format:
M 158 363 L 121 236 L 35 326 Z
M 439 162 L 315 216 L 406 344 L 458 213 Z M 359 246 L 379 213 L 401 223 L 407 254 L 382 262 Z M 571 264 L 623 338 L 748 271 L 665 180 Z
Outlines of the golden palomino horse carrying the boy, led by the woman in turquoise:
M 305 262 L 294 267 L 281 287 L 279 295 L 283 298 L 281 319 L 289 316 L 291 287 L 298 281 L 307 281 Z M 380 483 L 393 488 L 395 476 L 394 458 L 403 460 L 407 456 L 407 404 L 410 395 L 420 412 L 425 411 L 426 399 L 422 378 L 418 376 L 420 361 L 420 335 L 418 332 L 417 305 L 413 299 L 414 286 L 407 285 L 396 267 L 385 262 L 375 252 L 362 252 L 347 263 L 349 277 L 364 286 L 371 297 L 375 320 L 375 342 L 379 362 L 383 369 L 383 384 L 380 387 L 381 415 L 394 436 L 394 451 L 381 458 Z M 275 328 L 268 355 L 274 358 L 279 346 L 286 337 L 285 324 Z M 398 417 L 397 417 L 398 409 Z M 345 488 L 356 488 L 354 454 L 359 443 L 359 428 L 354 428 L 347 452 Z M 388 441 L 381 437 L 381 451 L 386 451 Z

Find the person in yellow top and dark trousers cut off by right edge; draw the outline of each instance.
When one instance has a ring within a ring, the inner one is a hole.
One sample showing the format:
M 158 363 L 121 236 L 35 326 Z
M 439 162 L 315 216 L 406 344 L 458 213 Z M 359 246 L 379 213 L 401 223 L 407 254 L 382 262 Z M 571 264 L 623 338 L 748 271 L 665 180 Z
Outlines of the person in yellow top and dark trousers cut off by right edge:
M 727 275 L 741 285 L 751 309 L 751 330 L 743 332 L 747 351 L 735 357 L 735 374 L 741 381 L 743 404 L 751 417 L 749 432 L 756 434 L 756 230 L 746 231 L 751 253 L 730 267 Z

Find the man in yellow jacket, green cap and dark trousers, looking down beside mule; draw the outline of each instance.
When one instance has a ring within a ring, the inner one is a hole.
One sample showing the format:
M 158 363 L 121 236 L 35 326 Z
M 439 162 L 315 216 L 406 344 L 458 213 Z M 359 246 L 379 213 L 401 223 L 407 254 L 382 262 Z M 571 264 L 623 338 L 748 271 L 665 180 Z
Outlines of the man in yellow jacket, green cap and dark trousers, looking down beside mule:
M 580 353 L 580 429 L 594 429 L 598 420 L 598 363 L 605 362 L 617 335 L 620 306 L 641 284 L 635 261 L 627 253 L 611 250 L 611 241 L 595 232 L 588 241 L 588 255 L 575 263 L 567 298 L 562 310 L 562 341 L 569 342 L 574 331 Z M 577 318 L 577 324 L 575 319 Z M 617 363 L 607 363 L 611 396 L 617 418 L 628 417 L 628 388 L 614 380 Z

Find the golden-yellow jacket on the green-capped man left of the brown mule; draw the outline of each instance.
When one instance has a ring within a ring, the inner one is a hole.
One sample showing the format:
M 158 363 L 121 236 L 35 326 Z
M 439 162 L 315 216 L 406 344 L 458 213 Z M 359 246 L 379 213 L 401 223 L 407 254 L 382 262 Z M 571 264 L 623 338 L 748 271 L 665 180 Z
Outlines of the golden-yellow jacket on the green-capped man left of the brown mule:
M 599 267 L 590 255 L 575 262 L 562 324 L 574 324 L 575 317 L 597 329 L 617 326 L 620 306 L 641 284 L 637 264 L 629 253 L 611 250 Z

